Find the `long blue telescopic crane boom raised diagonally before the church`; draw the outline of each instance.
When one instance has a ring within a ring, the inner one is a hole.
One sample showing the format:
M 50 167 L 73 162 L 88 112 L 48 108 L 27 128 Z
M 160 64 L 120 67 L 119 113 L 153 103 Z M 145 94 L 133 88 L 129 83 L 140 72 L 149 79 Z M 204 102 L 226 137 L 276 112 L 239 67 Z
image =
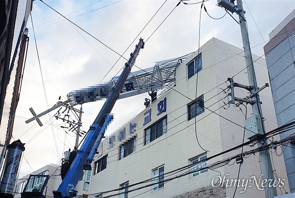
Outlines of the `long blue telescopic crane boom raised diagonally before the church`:
M 124 70 L 112 89 L 111 96 L 104 103 L 93 124 L 90 126 L 81 148 L 76 150 L 77 154 L 59 185 L 58 190 L 53 192 L 54 198 L 72 198 L 77 194 L 75 187 L 79 181 L 80 175 L 83 170 L 89 170 L 90 168 L 91 161 L 104 136 L 105 129 L 113 119 L 110 113 L 135 63 L 135 59 L 142 48 L 144 48 L 144 41 L 140 39 L 135 50 L 130 54 L 128 62 L 125 63 Z

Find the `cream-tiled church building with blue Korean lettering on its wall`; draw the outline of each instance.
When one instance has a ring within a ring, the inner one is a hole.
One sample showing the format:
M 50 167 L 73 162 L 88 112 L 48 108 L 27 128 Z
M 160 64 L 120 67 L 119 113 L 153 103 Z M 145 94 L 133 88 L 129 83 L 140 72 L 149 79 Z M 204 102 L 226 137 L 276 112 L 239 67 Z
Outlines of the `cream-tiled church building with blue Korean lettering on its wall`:
M 269 81 L 265 60 L 256 55 L 253 59 L 258 85 L 263 86 Z M 245 117 L 252 108 L 229 104 L 227 78 L 234 76 L 247 85 L 245 72 L 243 50 L 216 38 L 182 61 L 176 68 L 176 86 L 102 142 L 91 165 L 89 197 L 225 198 L 233 197 L 235 190 L 236 198 L 266 197 L 255 185 L 236 189 L 227 183 L 261 178 L 259 153 L 243 157 L 241 165 L 231 157 L 242 148 L 218 155 L 243 143 Z M 235 90 L 236 97 L 248 95 Z M 270 89 L 260 98 L 270 131 L 277 127 Z M 257 144 L 243 151 L 253 148 Z M 278 178 L 287 180 L 282 155 L 270 153 L 269 165 Z M 217 164 L 223 159 L 228 160 Z M 287 185 L 284 188 L 277 186 L 278 195 L 289 192 Z

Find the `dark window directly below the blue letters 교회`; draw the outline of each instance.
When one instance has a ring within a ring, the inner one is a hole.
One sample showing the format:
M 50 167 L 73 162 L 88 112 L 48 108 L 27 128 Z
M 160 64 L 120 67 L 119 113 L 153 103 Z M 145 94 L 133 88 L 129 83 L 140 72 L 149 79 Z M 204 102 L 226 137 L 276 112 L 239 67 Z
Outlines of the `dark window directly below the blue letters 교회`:
M 167 131 L 167 117 L 161 119 L 160 121 L 152 124 L 145 130 L 145 145 L 154 141 L 158 137 L 165 134 Z

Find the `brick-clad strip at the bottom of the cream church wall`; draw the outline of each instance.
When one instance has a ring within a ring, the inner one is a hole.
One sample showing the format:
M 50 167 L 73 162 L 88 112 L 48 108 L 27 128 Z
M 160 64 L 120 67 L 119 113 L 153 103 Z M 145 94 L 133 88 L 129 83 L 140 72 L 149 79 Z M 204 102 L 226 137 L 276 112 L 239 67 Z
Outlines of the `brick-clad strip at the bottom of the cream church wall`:
M 190 191 L 173 198 L 226 198 L 225 187 L 207 186 Z

